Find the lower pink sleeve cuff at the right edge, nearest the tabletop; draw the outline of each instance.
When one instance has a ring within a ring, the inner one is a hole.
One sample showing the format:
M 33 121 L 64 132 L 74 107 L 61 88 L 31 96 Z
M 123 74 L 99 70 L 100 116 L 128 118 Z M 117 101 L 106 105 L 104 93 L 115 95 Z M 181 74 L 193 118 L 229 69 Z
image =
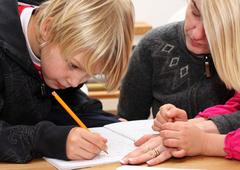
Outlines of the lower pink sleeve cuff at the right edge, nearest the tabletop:
M 224 140 L 226 158 L 240 160 L 240 128 L 227 134 Z

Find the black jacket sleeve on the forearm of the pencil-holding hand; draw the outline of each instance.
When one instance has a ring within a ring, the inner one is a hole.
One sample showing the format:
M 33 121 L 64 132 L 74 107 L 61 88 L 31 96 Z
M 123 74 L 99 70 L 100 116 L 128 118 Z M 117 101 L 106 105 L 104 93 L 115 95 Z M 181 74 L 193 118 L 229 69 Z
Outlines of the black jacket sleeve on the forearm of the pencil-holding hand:
M 67 159 L 69 126 L 51 122 L 36 125 L 10 125 L 0 121 L 0 161 L 25 163 L 42 156 Z

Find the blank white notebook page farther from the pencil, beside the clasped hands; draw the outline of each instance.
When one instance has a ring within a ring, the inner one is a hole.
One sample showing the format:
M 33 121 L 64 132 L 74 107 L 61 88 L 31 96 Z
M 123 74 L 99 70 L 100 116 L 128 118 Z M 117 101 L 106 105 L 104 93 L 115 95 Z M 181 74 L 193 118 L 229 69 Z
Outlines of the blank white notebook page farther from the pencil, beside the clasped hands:
M 157 134 L 152 130 L 153 119 L 134 120 L 105 125 L 104 127 L 135 141 L 146 134 Z

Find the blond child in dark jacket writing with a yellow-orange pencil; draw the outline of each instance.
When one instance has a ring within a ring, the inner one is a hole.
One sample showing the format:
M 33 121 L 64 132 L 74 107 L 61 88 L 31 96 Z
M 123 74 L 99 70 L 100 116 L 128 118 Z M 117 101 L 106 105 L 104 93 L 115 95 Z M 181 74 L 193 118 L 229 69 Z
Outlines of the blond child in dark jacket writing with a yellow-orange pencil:
M 39 7 L 0 2 L 0 160 L 42 156 L 92 159 L 106 139 L 77 127 L 56 90 L 88 126 L 118 119 L 79 87 L 102 74 L 109 90 L 124 74 L 133 39 L 130 0 L 49 0 Z

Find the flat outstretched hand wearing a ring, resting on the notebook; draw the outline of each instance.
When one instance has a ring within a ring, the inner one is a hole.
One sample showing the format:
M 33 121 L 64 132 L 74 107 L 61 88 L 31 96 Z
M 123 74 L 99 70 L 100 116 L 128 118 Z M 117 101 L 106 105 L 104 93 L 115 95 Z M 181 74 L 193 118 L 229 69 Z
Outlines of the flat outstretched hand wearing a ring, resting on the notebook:
M 170 150 L 163 146 L 159 135 L 145 135 L 135 142 L 137 149 L 126 155 L 120 162 L 122 164 L 159 164 L 171 158 Z

